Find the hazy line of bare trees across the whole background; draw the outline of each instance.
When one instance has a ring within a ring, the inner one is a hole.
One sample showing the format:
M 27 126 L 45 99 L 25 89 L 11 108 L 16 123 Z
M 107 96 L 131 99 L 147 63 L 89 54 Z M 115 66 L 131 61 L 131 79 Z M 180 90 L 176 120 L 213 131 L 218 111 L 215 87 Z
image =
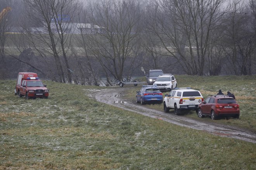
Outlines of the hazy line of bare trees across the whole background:
M 0 20 L 0 78 L 36 71 L 89 85 L 104 76 L 112 85 L 144 75 L 141 67 L 256 73 L 256 0 L 3 0 L 4 7 L 12 10 Z

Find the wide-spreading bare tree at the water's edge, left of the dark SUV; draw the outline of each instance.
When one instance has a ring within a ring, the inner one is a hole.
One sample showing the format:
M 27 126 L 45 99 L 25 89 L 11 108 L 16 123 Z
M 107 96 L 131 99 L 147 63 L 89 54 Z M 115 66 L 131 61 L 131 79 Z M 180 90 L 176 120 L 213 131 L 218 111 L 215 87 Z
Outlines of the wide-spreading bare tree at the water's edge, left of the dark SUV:
M 140 3 L 135 0 L 101 0 L 91 5 L 90 22 L 97 31 L 88 36 L 86 46 L 98 59 L 109 84 L 110 75 L 122 80 L 126 60 L 138 55 L 141 16 Z

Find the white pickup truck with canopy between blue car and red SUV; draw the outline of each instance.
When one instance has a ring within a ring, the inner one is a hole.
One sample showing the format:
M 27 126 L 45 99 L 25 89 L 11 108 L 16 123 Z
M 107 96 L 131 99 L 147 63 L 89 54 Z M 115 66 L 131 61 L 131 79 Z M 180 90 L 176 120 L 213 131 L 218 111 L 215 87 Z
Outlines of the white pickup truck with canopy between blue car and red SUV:
M 174 109 L 175 114 L 180 115 L 182 111 L 197 110 L 198 105 L 203 101 L 204 98 L 198 90 L 193 90 L 189 87 L 174 88 L 164 97 L 164 112 Z

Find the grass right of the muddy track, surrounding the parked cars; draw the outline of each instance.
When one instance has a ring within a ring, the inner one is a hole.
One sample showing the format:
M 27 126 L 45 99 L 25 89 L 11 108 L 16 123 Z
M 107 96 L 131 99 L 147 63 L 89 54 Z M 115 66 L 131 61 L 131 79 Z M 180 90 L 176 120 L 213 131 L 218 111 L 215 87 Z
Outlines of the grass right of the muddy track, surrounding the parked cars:
M 256 76 L 187 76 L 187 75 L 176 75 L 175 76 L 178 87 L 191 87 L 195 90 L 199 90 L 204 99 L 209 95 L 218 93 L 221 89 L 224 94 L 228 91 L 234 93 L 235 98 L 240 105 L 240 118 L 237 119 L 220 119 L 217 122 L 239 126 L 246 128 L 256 133 Z M 127 91 L 127 99 L 135 101 L 136 91 L 141 88 L 138 85 L 135 88 Z M 168 94 L 168 92 L 163 93 Z M 151 109 L 163 111 L 162 104 L 147 104 L 145 107 Z M 170 110 L 173 113 L 172 110 Z M 200 121 L 211 122 L 208 118 L 199 118 L 195 111 L 191 111 L 190 114 L 185 115 L 192 117 Z

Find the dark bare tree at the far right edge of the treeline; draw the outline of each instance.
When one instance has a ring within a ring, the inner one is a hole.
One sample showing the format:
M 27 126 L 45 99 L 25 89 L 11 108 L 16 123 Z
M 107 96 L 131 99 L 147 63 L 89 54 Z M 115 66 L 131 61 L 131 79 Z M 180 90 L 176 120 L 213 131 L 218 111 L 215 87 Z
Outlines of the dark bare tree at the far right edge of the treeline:
M 235 75 L 251 74 L 252 53 L 255 49 L 255 32 L 249 22 L 251 16 L 242 0 L 230 1 L 223 22 L 223 47 Z

